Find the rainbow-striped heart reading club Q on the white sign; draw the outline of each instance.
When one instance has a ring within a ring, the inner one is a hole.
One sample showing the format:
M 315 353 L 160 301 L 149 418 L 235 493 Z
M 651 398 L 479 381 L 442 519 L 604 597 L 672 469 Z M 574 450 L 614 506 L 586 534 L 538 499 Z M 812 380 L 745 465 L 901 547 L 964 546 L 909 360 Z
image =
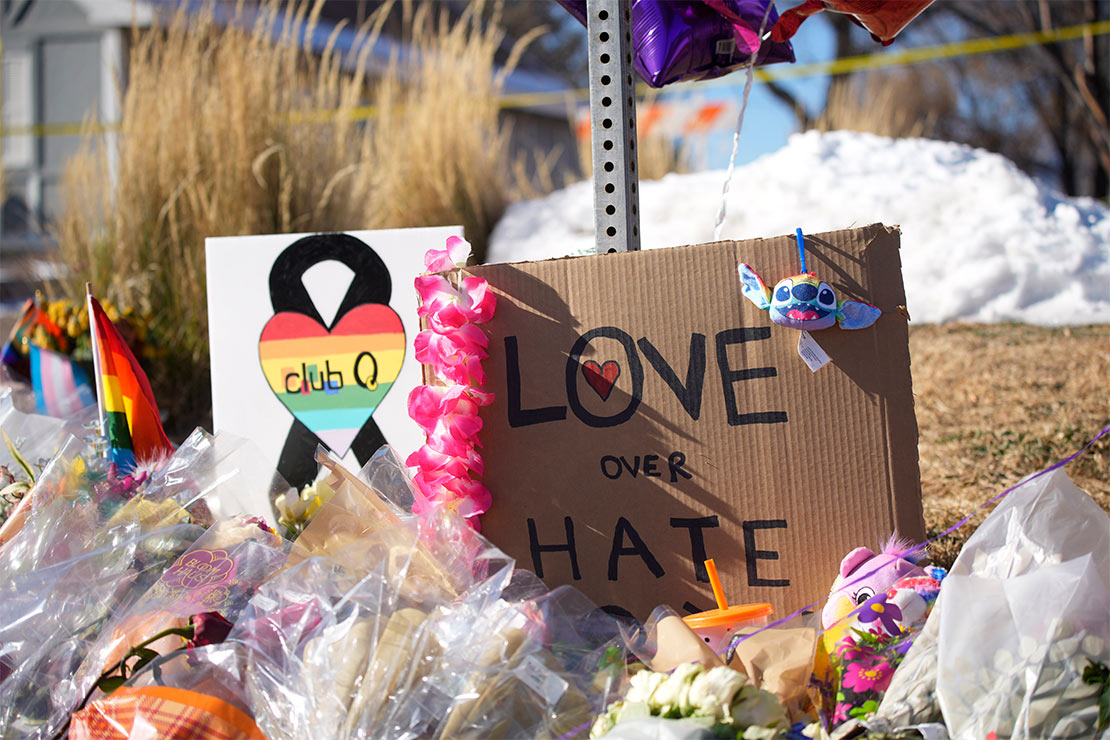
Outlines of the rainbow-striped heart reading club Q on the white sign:
M 342 457 L 401 373 L 405 330 L 381 303 L 355 306 L 331 332 L 282 312 L 262 328 L 259 359 L 278 399 Z

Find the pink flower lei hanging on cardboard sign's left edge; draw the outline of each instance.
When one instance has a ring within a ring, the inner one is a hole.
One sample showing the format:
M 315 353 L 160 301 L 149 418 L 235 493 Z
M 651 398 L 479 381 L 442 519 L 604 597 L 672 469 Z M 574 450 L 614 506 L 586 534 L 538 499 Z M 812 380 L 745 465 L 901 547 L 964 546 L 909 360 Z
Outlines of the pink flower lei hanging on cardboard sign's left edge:
M 408 416 L 426 440 L 405 463 L 416 468 L 415 514 L 447 506 L 478 529 L 477 517 L 492 500 L 475 479 L 484 469 L 477 453 L 478 409 L 493 403 L 493 394 L 480 387 L 485 383 L 482 361 L 488 356 L 488 339 L 476 324 L 493 317 L 497 302 L 483 278 L 460 280 L 470 255 L 471 245 L 452 236 L 446 249 L 424 255 L 430 273 L 453 271 L 451 278 L 425 274 L 415 281 L 421 297 L 416 313 L 428 328 L 416 335 L 413 348 L 416 359 L 432 368 L 435 385 L 416 386 L 408 394 Z

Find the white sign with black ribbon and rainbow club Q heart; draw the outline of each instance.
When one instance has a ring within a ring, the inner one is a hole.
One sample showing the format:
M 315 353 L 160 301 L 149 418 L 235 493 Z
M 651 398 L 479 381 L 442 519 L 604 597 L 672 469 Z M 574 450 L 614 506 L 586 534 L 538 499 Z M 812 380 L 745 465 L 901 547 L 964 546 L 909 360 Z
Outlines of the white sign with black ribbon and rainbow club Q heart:
M 413 278 L 458 226 L 205 241 L 212 414 L 258 443 L 292 485 L 323 444 L 360 467 L 424 435 L 408 418 L 421 382 Z

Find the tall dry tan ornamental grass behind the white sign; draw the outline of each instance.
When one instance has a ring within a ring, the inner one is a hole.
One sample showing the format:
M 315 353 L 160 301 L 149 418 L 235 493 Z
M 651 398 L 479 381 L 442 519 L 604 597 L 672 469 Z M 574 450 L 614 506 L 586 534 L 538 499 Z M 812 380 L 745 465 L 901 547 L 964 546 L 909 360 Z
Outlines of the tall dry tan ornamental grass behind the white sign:
M 83 300 L 91 281 L 152 316 L 163 357 L 147 369 L 180 434 L 210 396 L 206 236 L 462 223 L 481 253 L 508 201 L 497 98 L 531 37 L 498 72 L 503 34 L 481 4 L 451 21 L 386 4 L 349 52 L 342 28 L 313 51 L 301 39 L 319 4 L 244 3 L 233 22 L 181 11 L 135 30 L 115 149 L 90 134 L 65 171 L 60 290 Z M 371 75 L 394 10 L 412 54 Z

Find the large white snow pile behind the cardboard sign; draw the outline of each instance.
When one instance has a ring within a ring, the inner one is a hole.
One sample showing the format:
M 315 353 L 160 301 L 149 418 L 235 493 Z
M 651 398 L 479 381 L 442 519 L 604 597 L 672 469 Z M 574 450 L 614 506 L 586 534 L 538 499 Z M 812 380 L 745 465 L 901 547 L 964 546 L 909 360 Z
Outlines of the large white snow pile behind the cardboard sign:
M 741 142 L 743 145 L 743 142 Z M 724 172 L 640 184 L 643 247 L 713 241 Z M 917 323 L 1110 323 L 1110 209 L 1061 195 L 1003 156 L 922 139 L 810 131 L 738 168 L 722 239 L 901 226 Z M 593 251 L 593 190 L 581 182 L 509 206 L 492 262 Z

